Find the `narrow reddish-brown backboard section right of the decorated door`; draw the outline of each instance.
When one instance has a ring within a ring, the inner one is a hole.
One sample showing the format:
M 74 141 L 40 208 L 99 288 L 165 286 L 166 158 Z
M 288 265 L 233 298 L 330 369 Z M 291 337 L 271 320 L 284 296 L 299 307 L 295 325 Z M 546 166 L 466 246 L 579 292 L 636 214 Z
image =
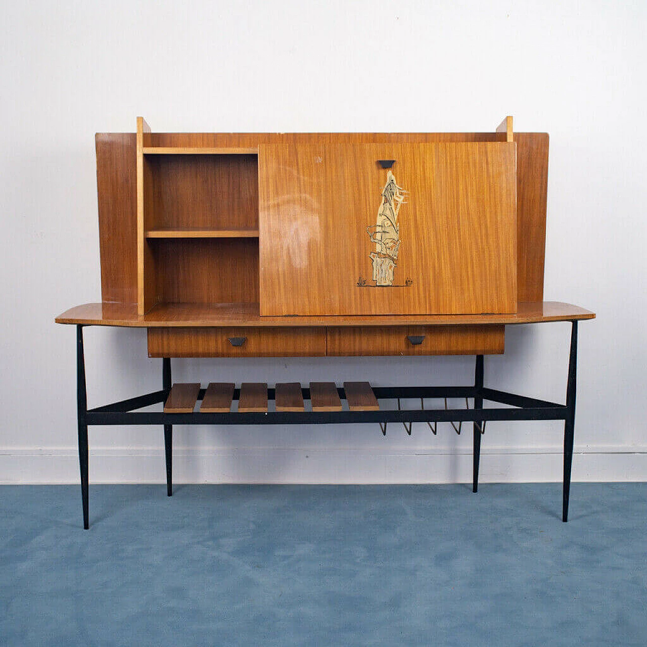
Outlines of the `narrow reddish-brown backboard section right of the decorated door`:
M 548 186 L 547 133 L 514 133 L 517 142 L 517 290 L 521 302 L 543 301 Z

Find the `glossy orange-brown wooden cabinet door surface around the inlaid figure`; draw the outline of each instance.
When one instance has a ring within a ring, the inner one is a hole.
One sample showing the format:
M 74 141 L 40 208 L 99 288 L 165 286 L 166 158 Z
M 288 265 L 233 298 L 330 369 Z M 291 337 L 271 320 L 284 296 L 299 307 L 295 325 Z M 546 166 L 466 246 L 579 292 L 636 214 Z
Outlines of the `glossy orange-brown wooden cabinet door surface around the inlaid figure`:
M 276 144 L 258 159 L 261 314 L 516 311 L 514 143 Z M 367 234 L 382 159 L 406 191 L 389 287 L 371 280 Z

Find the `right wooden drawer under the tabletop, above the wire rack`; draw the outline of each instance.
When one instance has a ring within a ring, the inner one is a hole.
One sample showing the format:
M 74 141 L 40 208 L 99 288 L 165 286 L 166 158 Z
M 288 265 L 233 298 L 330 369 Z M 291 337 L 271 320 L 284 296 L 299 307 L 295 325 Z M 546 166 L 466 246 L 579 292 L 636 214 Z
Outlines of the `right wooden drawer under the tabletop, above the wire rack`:
M 495 355 L 503 325 L 439 325 L 327 329 L 327 355 Z

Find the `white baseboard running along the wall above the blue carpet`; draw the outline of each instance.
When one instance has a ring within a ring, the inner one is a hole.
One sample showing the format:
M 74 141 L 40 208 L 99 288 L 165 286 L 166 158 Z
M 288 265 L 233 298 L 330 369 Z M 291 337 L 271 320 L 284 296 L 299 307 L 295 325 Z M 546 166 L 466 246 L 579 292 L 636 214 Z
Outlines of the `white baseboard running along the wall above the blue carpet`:
M 163 483 L 164 450 L 94 448 L 91 483 Z M 468 483 L 468 450 L 174 448 L 174 483 Z M 562 480 L 561 448 L 483 448 L 481 483 Z M 573 481 L 647 481 L 647 447 L 587 447 Z M 0 450 L 0 483 L 78 483 L 76 448 Z

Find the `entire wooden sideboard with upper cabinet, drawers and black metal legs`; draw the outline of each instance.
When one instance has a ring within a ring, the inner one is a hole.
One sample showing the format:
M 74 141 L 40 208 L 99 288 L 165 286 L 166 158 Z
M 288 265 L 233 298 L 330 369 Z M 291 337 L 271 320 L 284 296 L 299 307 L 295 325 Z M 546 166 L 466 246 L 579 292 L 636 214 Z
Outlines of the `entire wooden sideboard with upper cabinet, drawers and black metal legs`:
M 171 496 L 173 424 L 470 422 L 476 492 L 488 421 L 564 421 L 567 520 L 578 321 L 595 314 L 543 301 L 548 135 L 513 133 L 511 117 L 492 133 L 381 134 L 152 133 L 139 117 L 136 133 L 96 135 L 96 161 L 102 302 L 56 318 L 76 326 L 85 529 L 88 427 L 113 424 L 163 426 Z M 485 386 L 505 327 L 544 322 L 571 322 L 564 404 Z M 146 328 L 162 388 L 88 409 L 88 325 Z M 472 355 L 474 380 L 171 377 L 171 358 L 395 355 Z

